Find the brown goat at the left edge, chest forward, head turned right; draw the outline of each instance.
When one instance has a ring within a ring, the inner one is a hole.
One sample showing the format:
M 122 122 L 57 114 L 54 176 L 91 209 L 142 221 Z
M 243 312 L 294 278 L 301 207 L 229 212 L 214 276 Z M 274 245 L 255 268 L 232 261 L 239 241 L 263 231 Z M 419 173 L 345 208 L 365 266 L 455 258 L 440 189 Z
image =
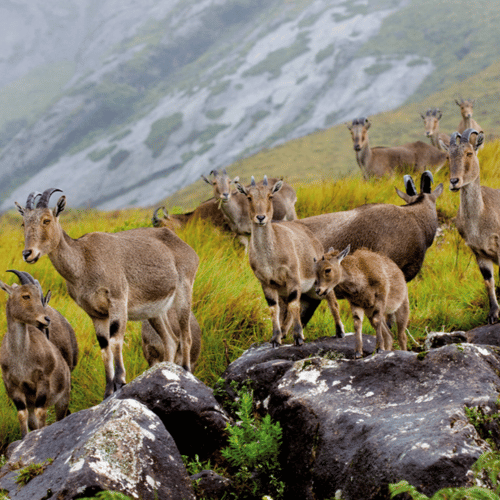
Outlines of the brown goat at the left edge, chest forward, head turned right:
M 8 396 L 17 409 L 24 437 L 45 426 L 47 409 L 55 406 L 57 420 L 68 413 L 71 370 L 78 360 L 75 332 L 66 319 L 47 304 L 42 287 L 31 275 L 10 270 L 21 285 L 7 292 L 7 333 L 0 348 L 0 366 Z

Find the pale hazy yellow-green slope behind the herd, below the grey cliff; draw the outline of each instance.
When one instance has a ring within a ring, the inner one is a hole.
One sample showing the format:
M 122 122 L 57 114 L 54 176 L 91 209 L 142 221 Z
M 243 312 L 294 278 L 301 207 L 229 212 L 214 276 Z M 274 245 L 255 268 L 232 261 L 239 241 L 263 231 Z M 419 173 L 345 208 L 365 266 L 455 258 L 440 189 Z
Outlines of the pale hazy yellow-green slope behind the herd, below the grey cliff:
M 487 140 L 500 136 L 500 61 L 479 74 L 439 91 L 418 103 L 401 106 L 371 117 L 370 144 L 372 146 L 396 146 L 405 142 L 422 140 L 423 120 L 420 113 L 438 107 L 443 112 L 440 130 L 451 133 L 456 130 L 461 117 L 455 104 L 459 96 L 477 100 L 474 119 L 483 127 Z M 356 118 L 356 117 L 352 117 Z M 221 168 L 224 165 L 218 165 Z M 239 175 L 246 182 L 251 175 L 261 178 L 264 174 L 278 176 L 285 173 L 286 180 L 311 183 L 318 180 L 341 178 L 346 174 L 359 175 L 359 168 L 352 149 L 352 141 L 346 124 L 336 125 L 273 149 L 226 166 L 230 175 Z M 208 174 L 208 172 L 206 172 Z M 195 180 L 165 200 L 167 208 L 182 206 L 194 208 L 200 201 L 211 196 L 208 186 Z

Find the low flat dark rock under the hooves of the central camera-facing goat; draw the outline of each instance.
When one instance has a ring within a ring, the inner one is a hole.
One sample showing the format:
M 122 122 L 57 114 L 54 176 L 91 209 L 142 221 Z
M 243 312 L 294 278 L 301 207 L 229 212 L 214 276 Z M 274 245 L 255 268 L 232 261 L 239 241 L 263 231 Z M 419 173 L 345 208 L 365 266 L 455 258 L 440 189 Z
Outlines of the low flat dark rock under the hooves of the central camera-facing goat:
M 375 351 L 376 339 L 372 335 L 363 335 L 363 355 L 368 356 Z M 238 384 L 246 380 L 252 381 L 254 397 L 263 402 L 269 396 L 269 390 L 274 382 L 279 380 L 294 364 L 311 356 L 327 358 L 354 359 L 356 352 L 354 334 L 347 333 L 344 338 L 322 337 L 302 346 L 290 344 L 274 348 L 270 343 L 253 345 L 238 359 L 233 361 L 222 374 L 225 380 L 225 390 L 236 397 L 231 382 Z

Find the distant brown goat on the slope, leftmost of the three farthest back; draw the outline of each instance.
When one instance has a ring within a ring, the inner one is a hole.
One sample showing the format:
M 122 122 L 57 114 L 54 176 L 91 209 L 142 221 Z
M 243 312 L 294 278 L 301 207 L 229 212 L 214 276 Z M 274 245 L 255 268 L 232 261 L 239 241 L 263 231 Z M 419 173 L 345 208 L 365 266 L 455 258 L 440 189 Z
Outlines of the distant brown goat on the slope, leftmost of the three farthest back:
M 423 172 L 426 167 L 432 167 L 437 171 L 448 158 L 447 153 L 422 141 L 409 142 L 392 148 L 370 148 L 368 143 L 370 125 L 367 118 L 356 118 L 347 126 L 351 131 L 356 161 L 365 179 L 383 177 L 405 168 Z

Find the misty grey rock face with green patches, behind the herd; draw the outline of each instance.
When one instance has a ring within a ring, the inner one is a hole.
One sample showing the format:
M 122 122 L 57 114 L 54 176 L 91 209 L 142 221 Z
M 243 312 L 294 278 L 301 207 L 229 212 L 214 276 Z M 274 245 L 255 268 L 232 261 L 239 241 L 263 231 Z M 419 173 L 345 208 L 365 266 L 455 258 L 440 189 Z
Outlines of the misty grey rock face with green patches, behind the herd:
M 65 58 L 76 70 L 4 147 L 0 210 L 47 187 L 72 206 L 151 205 L 264 147 L 399 106 L 431 61 L 356 54 L 405 3 L 26 2 L 31 36 L 2 73 L 7 57 L 14 75 Z

